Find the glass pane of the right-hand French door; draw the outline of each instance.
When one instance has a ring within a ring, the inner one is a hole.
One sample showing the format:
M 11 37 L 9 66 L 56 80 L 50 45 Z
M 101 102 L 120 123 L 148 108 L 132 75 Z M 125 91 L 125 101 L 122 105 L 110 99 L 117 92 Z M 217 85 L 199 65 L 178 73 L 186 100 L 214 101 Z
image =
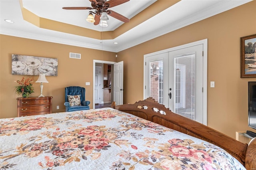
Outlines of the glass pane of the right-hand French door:
M 176 56 L 174 111 L 195 120 L 196 58 L 195 54 Z

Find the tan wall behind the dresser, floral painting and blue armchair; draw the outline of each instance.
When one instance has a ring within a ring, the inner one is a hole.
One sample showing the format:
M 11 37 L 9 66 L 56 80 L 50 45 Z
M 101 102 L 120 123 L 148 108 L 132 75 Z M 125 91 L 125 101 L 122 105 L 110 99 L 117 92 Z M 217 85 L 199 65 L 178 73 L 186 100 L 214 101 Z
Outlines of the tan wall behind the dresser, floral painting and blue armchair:
M 43 95 L 53 96 L 52 112 L 65 111 L 64 87 L 82 86 L 86 88 L 86 100 L 93 99 L 93 59 L 116 61 L 116 53 L 101 50 L 75 47 L 58 43 L 43 42 L 13 36 L 0 35 L 0 118 L 17 117 L 17 101 L 20 97 L 15 94 L 15 80 L 22 75 L 12 75 L 12 54 L 31 55 L 37 57 L 50 57 L 58 59 L 58 76 L 47 76 L 49 83 L 44 83 Z M 69 58 L 69 53 L 80 53 L 81 59 Z M 25 76 L 27 77 L 27 76 Z M 38 76 L 34 77 L 34 81 Z M 85 85 L 90 82 L 90 85 Z M 34 83 L 34 93 L 30 97 L 40 95 L 40 83 Z M 60 109 L 57 110 L 56 106 Z

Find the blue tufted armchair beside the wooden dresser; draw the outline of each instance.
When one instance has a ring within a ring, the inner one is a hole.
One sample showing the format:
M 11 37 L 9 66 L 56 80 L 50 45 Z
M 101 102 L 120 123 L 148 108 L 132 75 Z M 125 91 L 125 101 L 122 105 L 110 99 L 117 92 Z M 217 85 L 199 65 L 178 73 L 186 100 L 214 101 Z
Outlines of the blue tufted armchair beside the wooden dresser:
M 80 95 L 81 105 L 80 106 L 70 106 L 70 103 L 68 102 L 68 95 L 74 96 L 74 95 Z M 78 86 L 70 86 L 65 87 L 65 103 L 66 106 L 66 112 L 70 111 L 81 111 L 81 110 L 88 110 L 90 101 L 85 101 L 85 88 L 84 87 L 78 87 Z

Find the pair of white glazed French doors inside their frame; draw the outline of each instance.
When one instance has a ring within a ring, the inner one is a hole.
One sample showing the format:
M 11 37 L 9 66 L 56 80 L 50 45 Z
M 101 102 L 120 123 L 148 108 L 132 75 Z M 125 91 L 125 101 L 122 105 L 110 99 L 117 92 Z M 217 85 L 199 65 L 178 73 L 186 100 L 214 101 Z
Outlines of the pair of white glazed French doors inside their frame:
M 203 121 L 203 44 L 144 57 L 144 97 L 153 97 L 174 113 Z

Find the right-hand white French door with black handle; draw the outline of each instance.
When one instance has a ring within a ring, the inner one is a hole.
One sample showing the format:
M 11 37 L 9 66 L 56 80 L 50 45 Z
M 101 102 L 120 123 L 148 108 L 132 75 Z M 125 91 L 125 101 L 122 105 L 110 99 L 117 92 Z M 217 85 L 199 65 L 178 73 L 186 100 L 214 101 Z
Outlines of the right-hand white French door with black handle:
M 169 52 L 168 90 L 168 106 L 174 113 L 202 123 L 202 44 Z

